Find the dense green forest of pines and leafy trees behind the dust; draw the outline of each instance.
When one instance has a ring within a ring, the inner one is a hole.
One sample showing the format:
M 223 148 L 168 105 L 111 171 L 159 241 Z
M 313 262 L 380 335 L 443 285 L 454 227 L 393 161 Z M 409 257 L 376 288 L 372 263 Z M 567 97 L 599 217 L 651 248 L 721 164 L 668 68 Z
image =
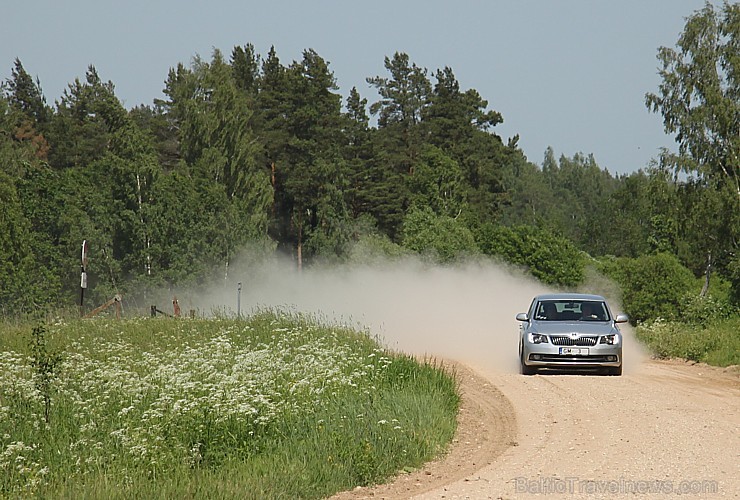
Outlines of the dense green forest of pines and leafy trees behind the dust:
M 314 50 L 286 64 L 246 44 L 177 64 L 165 98 L 132 109 L 94 66 L 50 105 L 16 59 L 0 91 L 0 315 L 76 304 L 83 240 L 98 304 L 223 280 L 250 245 L 299 269 L 358 247 L 486 255 L 563 288 L 595 269 L 635 320 L 711 296 L 736 310 L 739 46 L 740 5 L 708 4 L 657 50 L 645 105 L 677 153 L 629 175 L 552 149 L 532 163 L 452 68 L 403 52 L 368 77 L 374 102 L 344 99 Z

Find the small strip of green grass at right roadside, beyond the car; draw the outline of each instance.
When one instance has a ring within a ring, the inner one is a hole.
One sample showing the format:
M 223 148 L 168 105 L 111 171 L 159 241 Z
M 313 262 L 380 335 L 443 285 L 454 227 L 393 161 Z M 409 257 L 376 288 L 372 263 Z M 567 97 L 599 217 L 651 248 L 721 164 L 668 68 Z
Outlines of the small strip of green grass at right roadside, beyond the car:
M 740 316 L 706 325 L 659 319 L 639 325 L 636 334 L 660 358 L 740 365 Z

